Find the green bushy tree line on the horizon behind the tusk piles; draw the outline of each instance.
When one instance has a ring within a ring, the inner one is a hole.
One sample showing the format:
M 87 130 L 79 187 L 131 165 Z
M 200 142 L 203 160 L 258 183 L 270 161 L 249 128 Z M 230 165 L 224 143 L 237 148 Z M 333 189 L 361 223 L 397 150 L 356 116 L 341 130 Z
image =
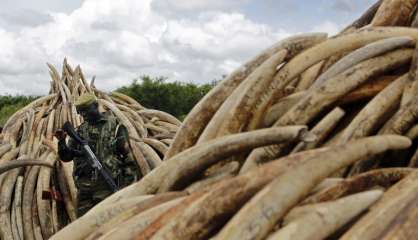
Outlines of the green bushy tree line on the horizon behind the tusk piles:
M 218 81 L 207 84 L 168 82 L 166 77 L 141 76 L 130 85 L 115 91 L 124 93 L 141 105 L 158 109 L 176 116 L 180 120 L 190 112 L 194 105 L 208 93 Z M 0 96 L 0 126 L 17 110 L 26 106 L 38 96 Z

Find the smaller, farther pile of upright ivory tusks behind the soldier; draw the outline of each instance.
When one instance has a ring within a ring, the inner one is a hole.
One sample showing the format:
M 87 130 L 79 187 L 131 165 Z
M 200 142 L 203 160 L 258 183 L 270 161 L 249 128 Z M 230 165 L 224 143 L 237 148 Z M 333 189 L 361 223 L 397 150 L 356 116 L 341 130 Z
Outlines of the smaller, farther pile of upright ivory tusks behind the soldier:
M 181 122 L 168 113 L 146 109 L 121 94 L 88 84 L 80 67 L 64 61 L 60 76 L 49 65 L 49 95 L 12 115 L 0 135 L 0 239 L 49 239 L 76 219 L 72 163 L 57 157 L 54 133 L 64 122 L 82 122 L 74 107 L 83 93 L 94 92 L 101 110 L 111 110 L 126 126 L 132 155 L 142 175 L 162 164 Z M 47 197 L 49 193 L 50 197 Z M 59 194 L 57 194 L 59 193 Z M 44 197 L 43 197 L 44 195 Z

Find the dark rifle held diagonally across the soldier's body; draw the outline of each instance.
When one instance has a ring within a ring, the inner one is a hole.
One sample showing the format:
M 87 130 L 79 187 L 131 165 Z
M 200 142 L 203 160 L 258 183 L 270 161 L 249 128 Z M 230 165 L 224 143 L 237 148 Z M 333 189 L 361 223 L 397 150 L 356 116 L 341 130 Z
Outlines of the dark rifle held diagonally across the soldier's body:
M 70 122 L 64 123 L 62 129 L 70 136 L 74 141 L 81 145 L 84 153 L 87 155 L 87 158 L 90 162 L 90 165 L 100 172 L 100 174 L 105 179 L 106 183 L 110 186 L 113 192 L 118 190 L 115 181 L 107 172 L 106 168 L 100 163 L 99 159 L 97 159 L 96 155 L 94 155 L 93 151 L 91 150 L 90 146 L 88 145 L 87 141 L 82 139 L 77 132 L 74 130 L 73 125 Z

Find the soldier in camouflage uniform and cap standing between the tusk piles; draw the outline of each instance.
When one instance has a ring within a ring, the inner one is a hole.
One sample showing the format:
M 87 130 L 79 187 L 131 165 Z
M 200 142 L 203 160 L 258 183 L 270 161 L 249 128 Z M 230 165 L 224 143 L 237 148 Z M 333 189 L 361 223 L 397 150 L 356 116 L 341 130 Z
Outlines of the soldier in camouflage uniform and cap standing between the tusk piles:
M 139 168 L 129 151 L 126 128 L 118 123 L 110 111 L 100 113 L 97 99 L 91 93 L 80 96 L 75 106 L 84 119 L 77 129 L 78 134 L 87 140 L 118 188 L 137 181 Z M 91 167 L 79 144 L 69 139 L 67 145 L 63 131 L 57 131 L 55 136 L 59 140 L 58 154 L 61 160 L 74 162 L 73 177 L 78 188 L 77 216 L 80 217 L 112 194 L 112 190 L 98 171 Z

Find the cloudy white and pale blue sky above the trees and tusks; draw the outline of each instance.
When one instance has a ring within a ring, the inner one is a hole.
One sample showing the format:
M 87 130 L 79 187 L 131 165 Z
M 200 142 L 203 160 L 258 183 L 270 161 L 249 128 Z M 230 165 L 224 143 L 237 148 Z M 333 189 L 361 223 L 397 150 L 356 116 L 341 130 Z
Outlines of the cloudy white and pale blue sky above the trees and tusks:
M 148 74 L 204 83 L 302 32 L 337 33 L 372 0 L 0 0 L 0 94 L 46 94 L 46 62 L 112 90 Z

